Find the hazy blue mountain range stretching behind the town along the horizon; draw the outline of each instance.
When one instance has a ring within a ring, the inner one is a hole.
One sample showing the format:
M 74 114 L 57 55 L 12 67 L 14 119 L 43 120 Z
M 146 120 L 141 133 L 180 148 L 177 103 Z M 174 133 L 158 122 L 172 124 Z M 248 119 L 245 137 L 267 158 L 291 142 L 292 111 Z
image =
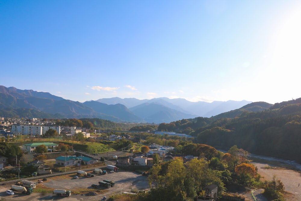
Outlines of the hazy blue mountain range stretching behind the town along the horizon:
M 250 101 L 190 102 L 186 99 L 139 100 L 118 97 L 78 102 L 47 92 L 0 86 L 0 115 L 24 118 L 101 118 L 115 122 L 169 123 L 211 117 L 241 108 Z

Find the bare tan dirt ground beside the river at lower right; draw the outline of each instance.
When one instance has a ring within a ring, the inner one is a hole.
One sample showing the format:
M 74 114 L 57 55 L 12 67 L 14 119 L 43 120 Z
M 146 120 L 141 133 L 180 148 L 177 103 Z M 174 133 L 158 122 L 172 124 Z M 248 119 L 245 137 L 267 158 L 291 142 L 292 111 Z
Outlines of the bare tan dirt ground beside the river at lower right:
M 276 175 L 278 179 L 282 181 L 285 186 L 285 191 L 288 193 L 285 194 L 285 198 L 290 201 L 299 201 L 301 200 L 301 174 L 298 171 L 288 170 L 284 168 L 275 168 L 275 169 L 266 169 L 264 167 L 268 166 L 267 163 L 257 163 L 253 162 L 258 168 L 258 173 L 265 180 L 272 180 L 273 176 Z M 273 167 L 272 165 L 269 165 Z

